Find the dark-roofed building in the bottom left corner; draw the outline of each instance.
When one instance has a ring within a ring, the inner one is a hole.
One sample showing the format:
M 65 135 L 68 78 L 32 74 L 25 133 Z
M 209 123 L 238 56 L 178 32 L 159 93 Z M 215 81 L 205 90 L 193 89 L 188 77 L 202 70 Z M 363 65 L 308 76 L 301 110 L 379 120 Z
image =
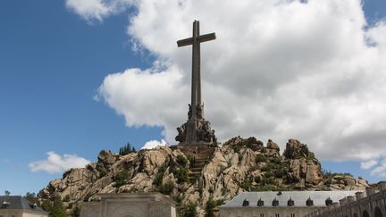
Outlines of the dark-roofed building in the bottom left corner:
M 47 217 L 42 208 L 23 196 L 0 196 L 0 217 Z

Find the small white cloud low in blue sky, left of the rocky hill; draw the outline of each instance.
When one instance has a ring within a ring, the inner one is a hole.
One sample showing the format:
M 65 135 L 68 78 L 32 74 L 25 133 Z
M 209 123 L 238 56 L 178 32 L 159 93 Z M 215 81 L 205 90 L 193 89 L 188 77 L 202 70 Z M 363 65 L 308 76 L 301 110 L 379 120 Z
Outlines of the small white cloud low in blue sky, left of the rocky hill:
M 49 173 L 58 173 L 67 171 L 71 168 L 81 168 L 90 163 L 87 159 L 75 154 L 63 154 L 48 152 L 47 159 L 29 163 L 30 171 L 46 171 Z

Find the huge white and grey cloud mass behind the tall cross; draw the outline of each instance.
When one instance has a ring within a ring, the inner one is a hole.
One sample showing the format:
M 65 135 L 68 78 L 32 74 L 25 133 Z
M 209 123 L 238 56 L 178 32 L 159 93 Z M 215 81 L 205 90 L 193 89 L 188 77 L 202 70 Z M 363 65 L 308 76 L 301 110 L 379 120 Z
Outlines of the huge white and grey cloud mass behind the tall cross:
M 176 41 L 199 20 L 202 34 L 217 35 L 201 46 L 201 71 L 206 119 L 220 141 L 256 136 L 283 148 L 298 138 L 323 160 L 368 161 L 386 152 L 386 23 L 368 26 L 360 0 L 132 6 L 130 42 L 154 54 L 154 66 L 112 73 L 99 88 L 128 126 L 163 127 L 175 143 L 191 73 L 191 48 Z

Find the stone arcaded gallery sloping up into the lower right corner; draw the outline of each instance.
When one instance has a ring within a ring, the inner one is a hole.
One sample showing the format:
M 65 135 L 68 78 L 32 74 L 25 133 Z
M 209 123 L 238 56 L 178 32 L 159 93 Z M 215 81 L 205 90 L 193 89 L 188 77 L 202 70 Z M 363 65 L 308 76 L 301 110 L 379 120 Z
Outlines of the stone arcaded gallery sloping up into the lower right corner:
M 307 217 L 386 217 L 386 181 L 379 182 L 355 196 L 340 198 L 323 209 L 315 210 Z

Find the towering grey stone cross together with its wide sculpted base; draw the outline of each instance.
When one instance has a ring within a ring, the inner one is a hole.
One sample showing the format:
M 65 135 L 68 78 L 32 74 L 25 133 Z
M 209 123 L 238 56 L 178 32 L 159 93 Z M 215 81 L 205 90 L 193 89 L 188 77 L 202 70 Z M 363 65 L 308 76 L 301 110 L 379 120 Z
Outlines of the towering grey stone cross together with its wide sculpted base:
M 180 142 L 180 145 L 217 144 L 214 129 L 211 129 L 210 122 L 204 118 L 204 104 L 201 102 L 200 71 L 200 43 L 214 39 L 214 33 L 200 35 L 199 21 L 194 21 L 193 37 L 177 41 L 178 46 L 193 46 L 191 104 L 189 104 L 188 121 L 177 128 L 179 134 L 175 138 Z

